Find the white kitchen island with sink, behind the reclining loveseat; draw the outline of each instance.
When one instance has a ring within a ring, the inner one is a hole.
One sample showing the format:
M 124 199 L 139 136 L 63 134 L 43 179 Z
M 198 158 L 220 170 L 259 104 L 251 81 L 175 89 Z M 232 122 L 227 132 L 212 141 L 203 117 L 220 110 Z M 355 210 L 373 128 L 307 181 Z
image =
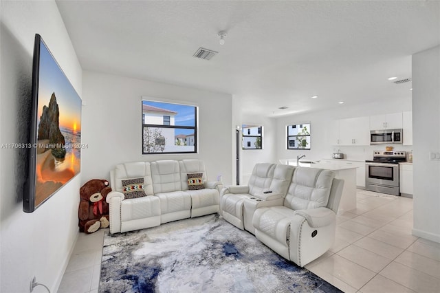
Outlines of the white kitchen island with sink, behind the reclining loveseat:
M 300 166 L 307 168 L 326 169 L 335 172 L 335 177 L 344 180 L 344 188 L 342 189 L 341 202 L 338 208 L 338 215 L 342 215 L 347 210 L 356 208 L 356 166 L 348 166 L 347 164 L 340 164 L 338 162 L 299 162 L 296 160 L 281 160 L 283 164 Z

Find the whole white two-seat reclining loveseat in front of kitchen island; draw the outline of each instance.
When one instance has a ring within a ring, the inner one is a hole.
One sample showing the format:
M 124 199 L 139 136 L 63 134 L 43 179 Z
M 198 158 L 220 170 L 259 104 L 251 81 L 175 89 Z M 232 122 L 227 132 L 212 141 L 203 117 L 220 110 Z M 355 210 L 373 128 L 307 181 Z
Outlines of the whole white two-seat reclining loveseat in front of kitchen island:
M 248 186 L 223 188 L 220 213 L 303 267 L 333 245 L 344 184 L 334 177 L 323 169 L 256 164 Z

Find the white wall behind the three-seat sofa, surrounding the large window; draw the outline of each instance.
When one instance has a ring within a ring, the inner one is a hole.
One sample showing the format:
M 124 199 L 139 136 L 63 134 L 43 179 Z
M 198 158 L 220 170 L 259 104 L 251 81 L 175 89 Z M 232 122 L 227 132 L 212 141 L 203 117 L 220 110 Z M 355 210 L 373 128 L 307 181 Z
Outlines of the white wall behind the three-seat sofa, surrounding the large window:
M 142 97 L 199 107 L 199 153 L 142 155 Z M 210 180 L 232 183 L 232 96 L 96 72 L 83 72 L 83 182 L 109 179 L 116 164 L 133 161 L 203 160 Z

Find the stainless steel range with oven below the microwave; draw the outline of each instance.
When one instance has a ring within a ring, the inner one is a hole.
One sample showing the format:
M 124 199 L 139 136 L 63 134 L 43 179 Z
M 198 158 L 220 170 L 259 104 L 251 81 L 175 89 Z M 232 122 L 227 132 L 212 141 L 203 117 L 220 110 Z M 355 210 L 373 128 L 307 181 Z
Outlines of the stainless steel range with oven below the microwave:
M 400 195 L 399 162 L 406 162 L 406 151 L 374 151 L 373 160 L 365 161 L 365 189 Z

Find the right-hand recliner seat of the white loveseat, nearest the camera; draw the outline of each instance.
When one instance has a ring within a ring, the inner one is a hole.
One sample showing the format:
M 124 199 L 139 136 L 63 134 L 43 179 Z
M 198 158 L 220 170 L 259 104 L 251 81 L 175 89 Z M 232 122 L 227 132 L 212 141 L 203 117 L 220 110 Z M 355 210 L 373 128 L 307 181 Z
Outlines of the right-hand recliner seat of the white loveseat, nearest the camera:
M 256 238 L 300 267 L 327 252 L 344 185 L 334 177 L 333 171 L 296 168 L 283 206 L 256 209 Z

